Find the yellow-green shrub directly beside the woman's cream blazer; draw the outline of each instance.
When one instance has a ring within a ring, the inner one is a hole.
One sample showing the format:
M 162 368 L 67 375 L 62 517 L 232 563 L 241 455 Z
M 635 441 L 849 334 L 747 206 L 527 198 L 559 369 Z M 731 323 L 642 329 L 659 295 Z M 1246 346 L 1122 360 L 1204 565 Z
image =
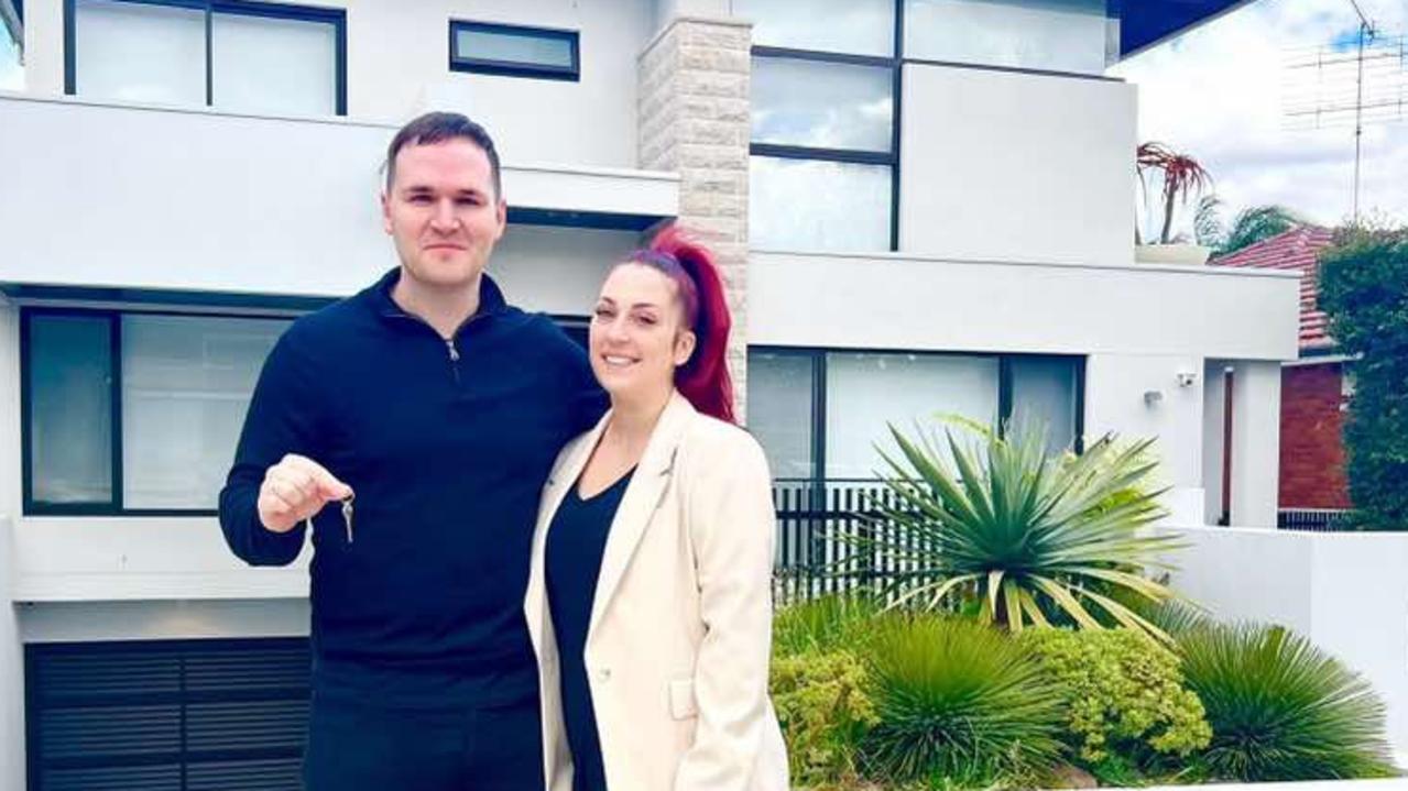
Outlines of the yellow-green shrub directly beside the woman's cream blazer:
M 867 684 L 865 663 L 850 652 L 773 659 L 773 707 L 794 783 L 817 785 L 856 777 L 860 738 L 879 722 Z

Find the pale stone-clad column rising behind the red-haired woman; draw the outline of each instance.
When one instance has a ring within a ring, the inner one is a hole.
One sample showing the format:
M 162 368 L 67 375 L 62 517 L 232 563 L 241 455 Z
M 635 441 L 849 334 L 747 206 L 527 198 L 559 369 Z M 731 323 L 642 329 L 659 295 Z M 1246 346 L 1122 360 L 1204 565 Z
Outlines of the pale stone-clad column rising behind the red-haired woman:
M 728 362 L 742 419 L 748 391 L 750 23 L 673 15 L 639 58 L 638 158 L 680 175 L 679 222 L 715 253 L 734 334 Z

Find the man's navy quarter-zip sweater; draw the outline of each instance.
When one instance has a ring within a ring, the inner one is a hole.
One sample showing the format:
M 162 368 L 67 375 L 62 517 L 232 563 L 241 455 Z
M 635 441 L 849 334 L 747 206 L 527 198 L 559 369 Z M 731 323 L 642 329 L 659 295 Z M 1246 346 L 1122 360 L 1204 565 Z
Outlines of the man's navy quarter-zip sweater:
M 507 705 L 536 695 L 522 615 L 543 480 L 605 408 L 586 355 L 484 276 L 446 342 L 391 301 L 400 270 L 300 318 L 255 387 L 220 494 L 231 549 L 290 563 L 304 526 L 259 522 L 286 453 L 352 487 L 314 518 L 314 694 L 393 708 Z

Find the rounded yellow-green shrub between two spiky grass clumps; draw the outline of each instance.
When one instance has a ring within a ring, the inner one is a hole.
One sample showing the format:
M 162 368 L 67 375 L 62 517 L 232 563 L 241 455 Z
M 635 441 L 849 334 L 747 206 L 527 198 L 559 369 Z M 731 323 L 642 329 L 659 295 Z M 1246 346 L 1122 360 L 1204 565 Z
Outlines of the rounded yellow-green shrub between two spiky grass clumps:
M 1183 687 L 1178 659 L 1128 629 L 1026 632 L 1021 643 L 1060 690 L 1066 735 L 1079 760 L 1114 770 L 1157 756 L 1186 757 L 1212 730 L 1198 697 Z

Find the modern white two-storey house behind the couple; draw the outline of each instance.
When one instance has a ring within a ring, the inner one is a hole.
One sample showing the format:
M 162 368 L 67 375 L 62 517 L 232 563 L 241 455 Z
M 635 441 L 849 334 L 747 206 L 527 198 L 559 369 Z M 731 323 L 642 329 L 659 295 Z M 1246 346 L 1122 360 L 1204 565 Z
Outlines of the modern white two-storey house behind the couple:
M 1104 76 L 1239 4 L 0 0 L 0 788 L 297 788 L 307 556 L 242 566 L 215 493 L 273 339 L 396 263 L 424 110 L 494 134 L 491 272 L 569 329 L 659 222 L 715 246 L 779 479 L 1026 414 L 1274 526 L 1297 277 L 1135 262 Z

